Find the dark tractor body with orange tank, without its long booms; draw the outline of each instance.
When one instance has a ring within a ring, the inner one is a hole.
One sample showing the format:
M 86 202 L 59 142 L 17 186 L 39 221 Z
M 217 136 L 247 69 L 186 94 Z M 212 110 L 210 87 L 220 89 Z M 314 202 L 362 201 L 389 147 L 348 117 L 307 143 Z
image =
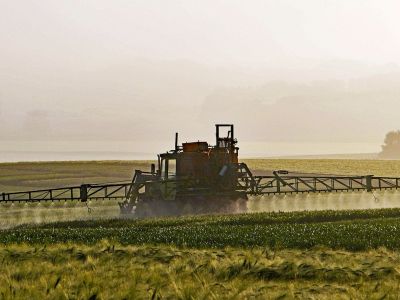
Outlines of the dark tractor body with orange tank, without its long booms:
M 222 136 L 222 132 L 225 133 Z M 158 168 L 135 171 L 122 214 L 139 218 L 158 215 L 206 214 L 246 210 L 247 193 L 238 189 L 249 170 L 238 163 L 232 124 L 216 125 L 215 145 L 197 141 L 158 155 Z

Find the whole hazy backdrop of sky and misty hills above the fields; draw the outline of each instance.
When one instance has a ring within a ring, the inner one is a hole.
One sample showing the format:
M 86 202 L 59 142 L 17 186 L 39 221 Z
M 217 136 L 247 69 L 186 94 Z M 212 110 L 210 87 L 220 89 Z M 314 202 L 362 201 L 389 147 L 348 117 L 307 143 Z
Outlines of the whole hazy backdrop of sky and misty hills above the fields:
M 218 121 L 247 143 L 379 149 L 400 127 L 399 12 L 389 0 L 0 0 L 0 150 L 166 150 L 175 131 L 210 138 Z

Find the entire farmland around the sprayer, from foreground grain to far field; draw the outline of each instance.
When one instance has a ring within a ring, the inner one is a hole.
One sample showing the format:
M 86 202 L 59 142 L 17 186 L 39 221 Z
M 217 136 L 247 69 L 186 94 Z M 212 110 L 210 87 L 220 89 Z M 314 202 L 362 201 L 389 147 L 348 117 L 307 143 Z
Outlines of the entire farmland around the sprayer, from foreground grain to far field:
M 149 163 L 0 164 L 0 192 L 129 180 Z M 246 163 L 400 176 L 397 161 Z M 397 191 L 293 195 L 252 199 L 247 214 L 146 220 L 119 218 L 111 201 L 90 213 L 83 203 L 3 204 L 0 299 L 397 299 L 399 202 Z

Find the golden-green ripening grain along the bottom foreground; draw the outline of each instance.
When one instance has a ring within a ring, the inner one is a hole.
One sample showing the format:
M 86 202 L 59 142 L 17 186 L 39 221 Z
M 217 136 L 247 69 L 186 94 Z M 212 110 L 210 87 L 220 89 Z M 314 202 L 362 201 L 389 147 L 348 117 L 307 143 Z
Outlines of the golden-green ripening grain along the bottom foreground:
M 2 299 L 397 299 L 399 252 L 0 246 Z

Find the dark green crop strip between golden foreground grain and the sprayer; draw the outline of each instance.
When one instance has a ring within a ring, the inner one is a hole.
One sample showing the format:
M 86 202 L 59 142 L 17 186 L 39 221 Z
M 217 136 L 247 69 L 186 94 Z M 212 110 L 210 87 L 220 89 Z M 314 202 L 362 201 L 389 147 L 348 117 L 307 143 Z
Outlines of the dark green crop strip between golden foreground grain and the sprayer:
M 98 220 L 0 231 L 0 243 L 174 245 L 192 248 L 400 249 L 399 209 Z

